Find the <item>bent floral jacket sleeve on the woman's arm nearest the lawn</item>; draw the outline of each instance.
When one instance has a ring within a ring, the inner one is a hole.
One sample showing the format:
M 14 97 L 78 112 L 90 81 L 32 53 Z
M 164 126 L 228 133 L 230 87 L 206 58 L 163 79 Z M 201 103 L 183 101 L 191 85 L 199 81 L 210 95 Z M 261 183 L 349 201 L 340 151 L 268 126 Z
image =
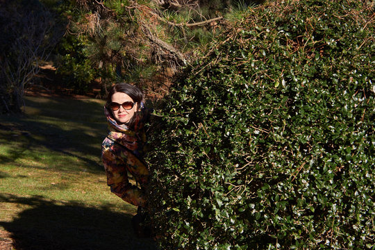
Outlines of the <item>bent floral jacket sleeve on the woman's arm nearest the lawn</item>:
M 103 146 L 101 159 L 106 170 L 110 191 L 134 206 L 146 206 L 144 192 L 128 181 L 128 159 L 126 156 L 117 156 L 110 147 Z

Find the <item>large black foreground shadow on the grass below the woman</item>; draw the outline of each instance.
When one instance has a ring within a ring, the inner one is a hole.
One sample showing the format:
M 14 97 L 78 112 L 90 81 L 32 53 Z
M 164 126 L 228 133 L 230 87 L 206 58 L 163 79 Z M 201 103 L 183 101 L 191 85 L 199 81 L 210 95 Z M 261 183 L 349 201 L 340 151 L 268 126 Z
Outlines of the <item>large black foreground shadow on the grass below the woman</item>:
M 157 249 L 153 240 L 135 238 L 132 215 L 115 213 L 106 206 L 60 205 L 40 196 L 0 195 L 0 201 L 30 206 L 12 222 L 0 222 L 11 234 L 15 249 Z

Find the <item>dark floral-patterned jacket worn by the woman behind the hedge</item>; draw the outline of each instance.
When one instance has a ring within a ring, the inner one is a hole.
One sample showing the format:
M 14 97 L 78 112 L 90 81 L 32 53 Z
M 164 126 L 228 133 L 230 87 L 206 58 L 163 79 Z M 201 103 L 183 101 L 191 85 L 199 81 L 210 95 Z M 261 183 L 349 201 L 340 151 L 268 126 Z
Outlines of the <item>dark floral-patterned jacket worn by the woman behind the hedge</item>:
M 109 133 L 101 144 L 101 159 L 107 174 L 107 184 L 110 191 L 124 201 L 135 206 L 146 206 L 144 188 L 147 185 L 149 170 L 143 160 L 146 135 L 144 123 L 149 119 L 150 110 L 141 103 L 141 109 L 136 114 L 135 126 L 130 130 L 125 124 L 117 124 L 104 108 L 108 121 Z M 128 180 L 128 173 L 138 185 Z

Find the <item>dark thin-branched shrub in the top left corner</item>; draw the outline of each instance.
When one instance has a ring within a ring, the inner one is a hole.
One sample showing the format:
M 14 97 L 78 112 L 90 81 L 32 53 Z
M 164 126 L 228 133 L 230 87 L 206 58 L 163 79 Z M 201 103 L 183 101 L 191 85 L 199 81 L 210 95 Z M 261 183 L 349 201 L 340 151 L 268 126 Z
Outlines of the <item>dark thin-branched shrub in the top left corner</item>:
M 24 89 L 62 36 L 53 12 L 40 1 L 0 1 L 0 113 L 19 113 Z

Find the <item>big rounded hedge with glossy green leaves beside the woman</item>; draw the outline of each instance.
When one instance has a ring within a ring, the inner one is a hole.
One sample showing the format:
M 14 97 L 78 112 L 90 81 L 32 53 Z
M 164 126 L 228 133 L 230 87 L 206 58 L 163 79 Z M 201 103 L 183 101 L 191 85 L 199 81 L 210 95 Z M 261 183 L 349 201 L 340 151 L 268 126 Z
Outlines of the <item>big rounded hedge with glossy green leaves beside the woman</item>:
M 254 8 L 176 83 L 149 159 L 163 248 L 374 249 L 363 2 Z

